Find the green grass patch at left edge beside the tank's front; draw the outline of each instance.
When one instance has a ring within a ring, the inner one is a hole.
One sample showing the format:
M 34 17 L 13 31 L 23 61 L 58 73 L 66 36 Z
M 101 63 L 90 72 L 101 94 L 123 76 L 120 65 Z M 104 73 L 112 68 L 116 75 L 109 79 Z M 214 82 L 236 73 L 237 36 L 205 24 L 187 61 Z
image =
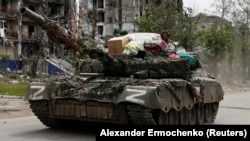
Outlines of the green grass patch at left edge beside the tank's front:
M 17 80 L 19 83 L 12 83 Z M 29 81 L 21 79 L 17 74 L 6 75 L 0 78 L 0 95 L 25 96 Z

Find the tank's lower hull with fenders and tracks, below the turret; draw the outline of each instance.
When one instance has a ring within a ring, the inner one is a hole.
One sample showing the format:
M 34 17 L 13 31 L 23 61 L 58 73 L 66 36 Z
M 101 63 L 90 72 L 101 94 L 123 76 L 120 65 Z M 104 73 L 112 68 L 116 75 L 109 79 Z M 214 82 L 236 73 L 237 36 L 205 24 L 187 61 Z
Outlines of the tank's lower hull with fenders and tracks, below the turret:
M 216 80 L 202 77 L 32 82 L 27 93 L 34 114 L 49 127 L 62 126 L 61 119 L 126 125 L 213 123 L 223 96 Z

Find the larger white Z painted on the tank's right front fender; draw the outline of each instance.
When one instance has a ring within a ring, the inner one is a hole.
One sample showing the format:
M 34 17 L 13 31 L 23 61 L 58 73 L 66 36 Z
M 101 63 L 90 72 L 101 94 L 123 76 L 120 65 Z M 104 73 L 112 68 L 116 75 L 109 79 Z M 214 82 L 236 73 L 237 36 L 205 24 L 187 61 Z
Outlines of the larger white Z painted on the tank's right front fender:
M 139 96 L 143 96 L 146 94 L 146 90 L 135 90 L 135 89 L 127 89 L 128 92 L 135 92 L 134 94 L 131 94 L 126 97 L 126 100 L 139 103 L 139 104 L 144 104 L 145 100 L 139 99 Z

